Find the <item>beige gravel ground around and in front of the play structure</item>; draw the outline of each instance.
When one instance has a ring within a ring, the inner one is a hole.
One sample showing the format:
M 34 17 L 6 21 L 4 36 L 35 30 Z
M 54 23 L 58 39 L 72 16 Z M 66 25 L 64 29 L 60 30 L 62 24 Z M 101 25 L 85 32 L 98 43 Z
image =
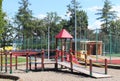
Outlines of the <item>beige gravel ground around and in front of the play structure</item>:
M 45 65 L 45 67 L 54 68 L 54 65 Z M 104 73 L 103 68 L 95 67 L 93 69 L 97 72 Z M 75 71 L 74 73 L 71 73 L 69 69 L 63 69 L 62 71 L 49 69 L 45 71 L 29 71 L 28 73 L 26 73 L 25 65 L 23 65 L 19 66 L 18 70 L 14 70 L 13 73 L 9 75 L 18 76 L 20 78 L 20 80 L 18 81 L 120 81 L 120 68 L 109 68 L 108 74 L 112 77 L 96 79 Z M 0 81 L 12 80 L 0 79 Z

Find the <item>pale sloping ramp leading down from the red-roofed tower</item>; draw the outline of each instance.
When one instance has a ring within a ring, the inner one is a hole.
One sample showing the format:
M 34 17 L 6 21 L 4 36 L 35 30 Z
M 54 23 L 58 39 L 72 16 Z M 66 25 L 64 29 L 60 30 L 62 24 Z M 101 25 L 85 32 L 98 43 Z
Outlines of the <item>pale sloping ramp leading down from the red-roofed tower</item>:
M 63 65 L 67 68 L 71 68 L 69 62 L 58 62 L 58 64 Z M 83 68 L 83 67 L 78 67 L 78 66 L 73 64 L 73 70 L 84 73 L 84 74 L 90 76 L 90 71 Z M 102 73 L 92 72 L 91 77 L 94 77 L 94 78 L 108 78 L 108 77 L 111 77 L 111 75 L 105 75 L 105 74 L 102 74 Z

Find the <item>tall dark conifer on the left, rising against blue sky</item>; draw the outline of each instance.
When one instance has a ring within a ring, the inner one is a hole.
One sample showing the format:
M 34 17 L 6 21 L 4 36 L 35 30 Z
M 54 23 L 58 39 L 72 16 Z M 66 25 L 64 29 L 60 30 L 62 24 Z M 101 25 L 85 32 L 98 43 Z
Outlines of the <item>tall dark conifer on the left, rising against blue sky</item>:
M 17 24 L 17 30 L 19 33 L 19 36 L 22 35 L 22 37 L 31 37 L 33 35 L 32 33 L 32 27 L 31 21 L 32 21 L 32 11 L 29 10 L 29 1 L 28 0 L 21 0 L 19 2 L 21 5 L 18 9 L 18 13 L 15 15 L 15 23 Z

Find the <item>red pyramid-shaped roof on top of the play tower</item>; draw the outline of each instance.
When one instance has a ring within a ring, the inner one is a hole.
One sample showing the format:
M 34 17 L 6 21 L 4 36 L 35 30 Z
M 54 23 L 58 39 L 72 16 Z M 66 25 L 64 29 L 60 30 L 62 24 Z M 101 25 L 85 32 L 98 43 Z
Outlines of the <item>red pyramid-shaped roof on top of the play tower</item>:
M 70 33 L 68 33 L 68 31 L 66 31 L 65 29 L 62 29 L 56 36 L 55 38 L 73 38 L 72 35 Z

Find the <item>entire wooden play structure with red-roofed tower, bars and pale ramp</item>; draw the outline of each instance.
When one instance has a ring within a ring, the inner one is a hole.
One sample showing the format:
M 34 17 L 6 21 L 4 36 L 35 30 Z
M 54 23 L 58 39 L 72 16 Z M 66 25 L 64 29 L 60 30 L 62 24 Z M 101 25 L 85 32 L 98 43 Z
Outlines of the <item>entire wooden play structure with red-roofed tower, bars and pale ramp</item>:
M 65 35 L 66 34 L 66 35 Z M 57 49 L 58 46 L 58 40 L 61 40 L 61 50 Z M 66 41 L 67 39 L 70 39 L 70 49 L 69 51 L 66 50 Z M 3 67 L 5 67 L 5 72 L 7 72 L 7 67 L 9 66 L 10 68 L 10 73 L 13 72 L 13 64 L 12 64 L 12 57 L 15 56 L 16 62 L 15 62 L 15 68 L 18 69 L 18 63 L 17 63 L 17 58 L 18 56 L 24 56 L 26 58 L 25 61 L 25 71 L 29 72 L 29 70 L 32 70 L 33 68 L 31 67 L 32 64 L 34 64 L 35 70 L 39 69 L 37 66 L 40 64 L 40 69 L 44 70 L 45 69 L 45 64 L 54 64 L 55 69 L 58 70 L 59 67 L 58 65 L 61 65 L 61 69 L 63 67 L 67 67 L 73 72 L 74 70 L 84 73 L 86 75 L 89 75 L 91 77 L 95 78 L 100 78 L 100 77 L 111 77 L 110 75 L 107 75 L 107 60 L 105 59 L 105 64 L 104 64 L 104 70 L 105 72 L 102 74 L 98 74 L 96 72 L 93 72 L 92 69 L 92 60 L 87 59 L 87 54 L 81 54 L 80 52 L 75 52 L 73 51 L 72 48 L 72 36 L 65 30 L 63 29 L 58 35 L 56 35 L 56 54 L 54 56 L 55 61 L 51 63 L 46 63 L 45 62 L 45 50 L 41 51 L 11 51 L 11 52 L 1 52 L 0 57 L 1 57 L 1 71 L 3 71 Z M 5 63 L 3 63 L 3 55 L 5 55 Z M 10 63 L 7 63 L 7 57 L 10 57 Z M 38 56 L 41 56 L 41 61 L 37 62 Z M 34 57 L 34 62 L 32 61 L 32 58 Z M 84 69 L 81 68 L 83 65 L 81 65 L 81 62 L 84 62 L 85 66 Z M 89 66 L 89 70 L 88 70 Z

